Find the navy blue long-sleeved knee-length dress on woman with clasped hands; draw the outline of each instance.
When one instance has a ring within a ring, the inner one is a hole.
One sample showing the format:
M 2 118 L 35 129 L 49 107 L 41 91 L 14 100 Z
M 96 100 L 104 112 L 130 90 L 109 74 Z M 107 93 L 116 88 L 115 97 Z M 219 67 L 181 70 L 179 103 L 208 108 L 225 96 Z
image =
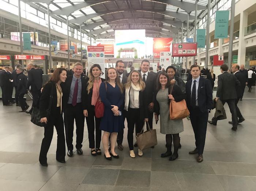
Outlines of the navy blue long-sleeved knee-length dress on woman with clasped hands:
M 119 132 L 124 128 L 124 118 L 123 115 L 114 116 L 114 113 L 111 110 L 113 107 L 111 105 L 116 105 L 118 110 L 122 111 L 124 92 L 121 93 L 120 88 L 117 85 L 116 87 L 113 87 L 108 82 L 106 83 L 107 90 L 104 82 L 102 82 L 99 87 L 99 97 L 101 97 L 101 101 L 105 106 L 104 116 L 101 118 L 99 129 L 110 133 Z

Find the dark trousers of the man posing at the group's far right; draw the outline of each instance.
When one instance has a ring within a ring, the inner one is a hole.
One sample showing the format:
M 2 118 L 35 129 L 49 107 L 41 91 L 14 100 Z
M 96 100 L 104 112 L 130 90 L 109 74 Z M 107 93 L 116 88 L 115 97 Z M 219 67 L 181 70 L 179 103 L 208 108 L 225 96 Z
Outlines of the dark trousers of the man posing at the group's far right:
M 198 154 L 202 155 L 206 138 L 208 112 L 201 112 L 198 107 L 190 109 L 189 112 L 195 134 L 196 148 L 198 149 Z

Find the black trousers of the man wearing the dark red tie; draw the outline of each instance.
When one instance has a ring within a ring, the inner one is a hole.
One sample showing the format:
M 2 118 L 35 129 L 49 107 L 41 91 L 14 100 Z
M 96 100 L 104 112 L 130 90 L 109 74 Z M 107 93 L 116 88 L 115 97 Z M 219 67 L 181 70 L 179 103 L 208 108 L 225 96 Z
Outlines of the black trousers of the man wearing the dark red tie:
M 74 148 L 74 120 L 76 120 L 76 148 L 78 149 L 83 146 L 84 115 L 82 103 L 78 103 L 76 106 L 67 104 L 67 108 L 64 110 L 64 124 L 68 150 L 73 150 Z

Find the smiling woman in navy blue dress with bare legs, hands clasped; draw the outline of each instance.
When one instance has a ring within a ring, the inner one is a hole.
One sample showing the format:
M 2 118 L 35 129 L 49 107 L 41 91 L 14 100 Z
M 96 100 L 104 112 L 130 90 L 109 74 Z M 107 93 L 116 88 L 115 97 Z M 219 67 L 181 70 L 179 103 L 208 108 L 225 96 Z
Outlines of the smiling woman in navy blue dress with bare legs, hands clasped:
M 99 126 L 104 131 L 102 136 L 104 156 L 107 160 L 112 160 L 111 156 L 118 159 L 119 156 L 114 149 L 116 146 L 117 132 L 121 128 L 124 128 L 124 119 L 121 114 L 124 104 L 124 87 L 120 78 L 118 78 L 115 68 L 110 67 L 108 69 L 106 81 L 101 83 L 99 87 L 99 96 L 105 106 L 104 116 L 101 118 L 101 124 Z M 108 151 L 109 135 L 111 143 L 110 152 Z

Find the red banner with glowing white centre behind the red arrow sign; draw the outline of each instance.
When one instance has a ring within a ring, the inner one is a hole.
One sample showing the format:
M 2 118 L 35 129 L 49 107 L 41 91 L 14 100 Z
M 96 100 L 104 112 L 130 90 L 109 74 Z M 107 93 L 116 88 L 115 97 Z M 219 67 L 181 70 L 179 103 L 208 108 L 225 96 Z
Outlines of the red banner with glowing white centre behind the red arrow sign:
M 173 38 L 153 38 L 154 58 L 160 58 L 160 52 L 170 52 Z

